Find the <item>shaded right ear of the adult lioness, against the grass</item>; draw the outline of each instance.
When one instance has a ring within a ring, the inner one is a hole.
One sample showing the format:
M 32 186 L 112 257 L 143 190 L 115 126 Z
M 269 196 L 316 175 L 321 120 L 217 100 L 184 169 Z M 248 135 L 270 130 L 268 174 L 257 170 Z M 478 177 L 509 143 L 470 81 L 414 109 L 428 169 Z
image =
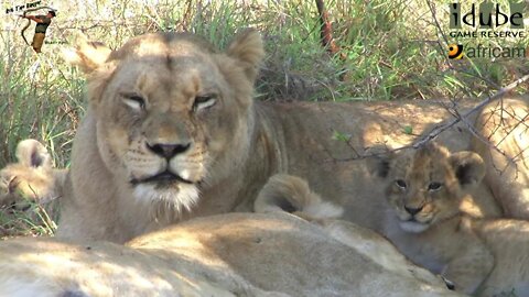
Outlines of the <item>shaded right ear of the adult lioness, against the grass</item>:
M 250 79 L 255 79 L 259 64 L 264 57 L 264 48 L 259 32 L 253 29 L 246 29 L 238 33 L 229 44 L 228 56 L 237 59 Z

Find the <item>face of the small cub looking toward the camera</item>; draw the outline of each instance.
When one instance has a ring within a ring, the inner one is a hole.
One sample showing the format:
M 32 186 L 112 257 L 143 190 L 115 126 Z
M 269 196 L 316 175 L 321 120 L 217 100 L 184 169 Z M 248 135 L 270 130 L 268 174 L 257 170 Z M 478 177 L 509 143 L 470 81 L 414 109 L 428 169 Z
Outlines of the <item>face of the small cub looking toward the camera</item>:
M 414 233 L 456 216 L 463 196 L 485 175 L 476 153 L 451 154 L 435 143 L 398 152 L 380 165 L 388 205 L 400 228 Z

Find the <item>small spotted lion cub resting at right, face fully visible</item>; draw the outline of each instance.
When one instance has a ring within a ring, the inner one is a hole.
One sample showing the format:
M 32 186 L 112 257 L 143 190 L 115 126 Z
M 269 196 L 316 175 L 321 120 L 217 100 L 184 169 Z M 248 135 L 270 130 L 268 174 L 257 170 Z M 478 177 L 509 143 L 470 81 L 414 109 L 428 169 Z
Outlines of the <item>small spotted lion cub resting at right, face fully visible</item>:
M 387 180 L 384 233 L 410 260 L 477 296 L 529 296 L 529 222 L 478 219 L 461 202 L 479 187 L 482 157 L 429 143 L 380 162 Z

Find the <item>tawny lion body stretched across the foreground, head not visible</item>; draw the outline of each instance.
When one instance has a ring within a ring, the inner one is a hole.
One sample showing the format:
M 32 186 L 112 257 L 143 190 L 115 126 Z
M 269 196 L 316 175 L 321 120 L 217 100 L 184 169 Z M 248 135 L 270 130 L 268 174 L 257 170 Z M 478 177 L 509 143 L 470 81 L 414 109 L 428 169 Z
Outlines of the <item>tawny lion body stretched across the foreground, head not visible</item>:
M 357 237 L 347 224 L 328 230 L 290 215 L 227 213 L 125 246 L 3 241 L 0 296 L 460 296 L 395 251 L 342 243 Z

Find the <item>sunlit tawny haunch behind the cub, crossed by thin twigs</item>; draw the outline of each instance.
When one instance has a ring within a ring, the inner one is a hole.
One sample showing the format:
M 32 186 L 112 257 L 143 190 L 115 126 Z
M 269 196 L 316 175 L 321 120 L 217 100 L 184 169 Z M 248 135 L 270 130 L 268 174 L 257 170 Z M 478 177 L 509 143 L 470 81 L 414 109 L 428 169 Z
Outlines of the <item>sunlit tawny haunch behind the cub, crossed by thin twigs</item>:
M 489 105 L 476 123 L 483 139 L 474 150 L 485 160 L 486 183 L 510 218 L 529 220 L 528 100 L 506 99 Z

